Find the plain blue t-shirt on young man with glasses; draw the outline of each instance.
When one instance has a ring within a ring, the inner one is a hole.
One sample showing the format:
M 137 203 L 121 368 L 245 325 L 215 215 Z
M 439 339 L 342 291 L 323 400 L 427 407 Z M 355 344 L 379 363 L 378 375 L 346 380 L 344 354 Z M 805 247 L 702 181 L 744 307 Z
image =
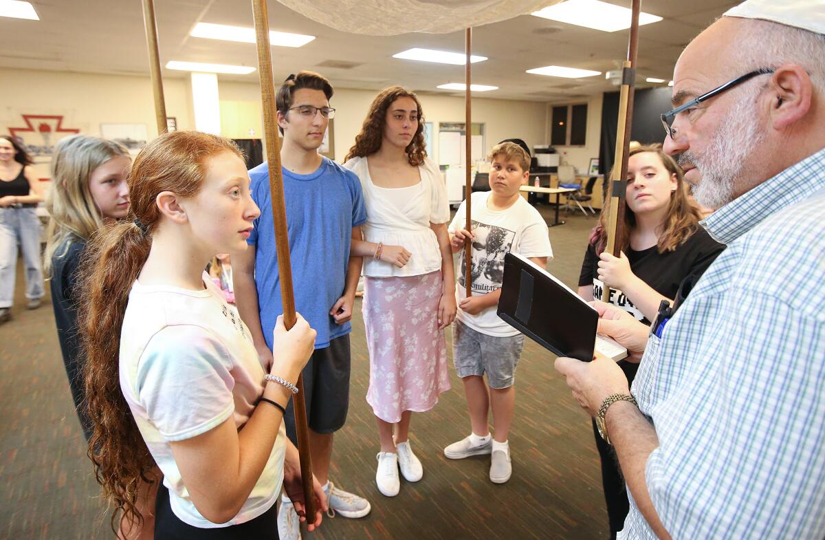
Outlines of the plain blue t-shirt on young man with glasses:
M 295 310 L 318 332 L 315 348 L 325 348 L 332 339 L 351 332 L 351 325 L 336 324 L 329 310 L 344 292 L 352 227 L 366 220 L 361 182 L 355 173 L 327 158 L 314 173 L 281 171 Z M 266 163 L 250 170 L 249 178 L 261 216 L 247 244 L 255 248 L 261 329 L 266 345 L 272 348 L 272 329 L 284 308 Z

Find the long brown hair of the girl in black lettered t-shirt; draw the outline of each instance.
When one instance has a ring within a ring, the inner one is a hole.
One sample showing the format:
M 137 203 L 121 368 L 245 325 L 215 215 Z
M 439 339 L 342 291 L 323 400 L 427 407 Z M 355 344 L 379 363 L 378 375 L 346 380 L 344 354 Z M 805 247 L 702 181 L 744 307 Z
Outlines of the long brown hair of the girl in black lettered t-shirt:
M 630 150 L 629 156 L 642 154 L 643 152 L 652 152 L 658 155 L 667 172 L 676 175 L 676 191 L 673 192 L 670 204 L 667 206 L 667 217 L 660 225 L 661 230 L 657 231 L 659 238 L 657 243 L 658 252 L 673 251 L 684 244 L 699 229 L 702 213 L 699 206 L 696 206 L 691 197 L 688 197 L 685 173 L 682 173 L 681 168 L 672 157 L 662 151 L 662 144 L 639 146 Z M 601 216 L 599 216 L 599 225 L 596 225 L 590 236 L 590 243 L 596 246 L 596 253 L 604 251 L 607 245 L 608 216 L 610 216 L 610 197 L 606 197 L 605 206 L 601 209 Z M 621 237 L 615 239 L 615 245 L 619 249 L 627 250 L 630 245 L 630 231 L 635 226 L 636 216 L 627 206 L 627 201 L 625 201 L 625 226 L 621 228 Z

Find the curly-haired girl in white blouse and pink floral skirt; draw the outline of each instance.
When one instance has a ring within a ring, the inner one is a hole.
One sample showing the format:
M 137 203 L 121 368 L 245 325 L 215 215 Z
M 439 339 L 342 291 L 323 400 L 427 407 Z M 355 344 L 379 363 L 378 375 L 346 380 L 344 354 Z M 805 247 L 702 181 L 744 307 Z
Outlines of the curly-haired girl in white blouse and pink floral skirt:
M 447 234 L 446 188 L 424 148 L 421 104 L 412 92 L 387 88 L 375 97 L 344 164 L 361 179 L 364 324 L 370 350 L 372 406 L 381 449 L 375 481 L 398 495 L 398 468 L 421 480 L 408 441 L 413 411 L 436 405 L 450 389 L 444 329 L 455 318 L 455 274 Z

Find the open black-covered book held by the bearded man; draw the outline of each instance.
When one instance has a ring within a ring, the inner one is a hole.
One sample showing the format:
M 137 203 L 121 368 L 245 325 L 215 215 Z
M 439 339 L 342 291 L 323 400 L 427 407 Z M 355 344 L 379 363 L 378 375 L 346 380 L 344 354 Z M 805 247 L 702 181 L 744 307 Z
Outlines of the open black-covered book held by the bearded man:
M 590 362 L 599 314 L 572 289 L 521 255 L 504 257 L 497 314 L 557 356 Z

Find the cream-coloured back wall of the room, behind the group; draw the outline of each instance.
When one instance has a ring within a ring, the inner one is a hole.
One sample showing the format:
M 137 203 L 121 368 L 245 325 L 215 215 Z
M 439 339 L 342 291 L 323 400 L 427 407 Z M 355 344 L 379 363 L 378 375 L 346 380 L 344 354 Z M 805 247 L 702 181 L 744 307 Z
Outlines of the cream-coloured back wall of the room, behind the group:
M 177 118 L 180 130 L 194 129 L 191 88 L 186 78 L 166 78 L 163 82 L 167 116 Z M 361 129 L 374 90 L 338 88 L 332 97 L 337 109 L 333 144 L 335 157 L 341 161 Z M 152 87 L 147 77 L 103 75 L 6 69 L 0 77 L 0 132 L 9 127 L 25 126 L 23 114 L 64 116 L 63 126 L 77 128 L 88 135 L 100 135 L 101 123 L 144 123 L 148 136 L 157 135 L 154 124 Z M 434 94 L 420 96 L 427 121 L 433 122 L 436 149 L 429 149 L 436 159 L 439 122 L 464 121 L 464 98 Z M 222 135 L 231 138 L 262 138 L 260 93 L 257 80 L 250 83 L 221 81 L 219 100 Z M 543 102 L 518 102 L 474 97 L 473 121 L 485 124 L 485 152 L 499 140 L 519 137 L 532 147 L 545 144 L 548 137 L 547 105 Z M 562 148 L 568 163 L 587 168 L 598 156 L 601 126 L 601 96 L 587 108 L 587 145 Z M 250 135 L 252 130 L 252 135 Z M 40 162 L 47 162 L 40 159 Z M 48 176 L 48 165 L 40 163 L 38 172 Z

